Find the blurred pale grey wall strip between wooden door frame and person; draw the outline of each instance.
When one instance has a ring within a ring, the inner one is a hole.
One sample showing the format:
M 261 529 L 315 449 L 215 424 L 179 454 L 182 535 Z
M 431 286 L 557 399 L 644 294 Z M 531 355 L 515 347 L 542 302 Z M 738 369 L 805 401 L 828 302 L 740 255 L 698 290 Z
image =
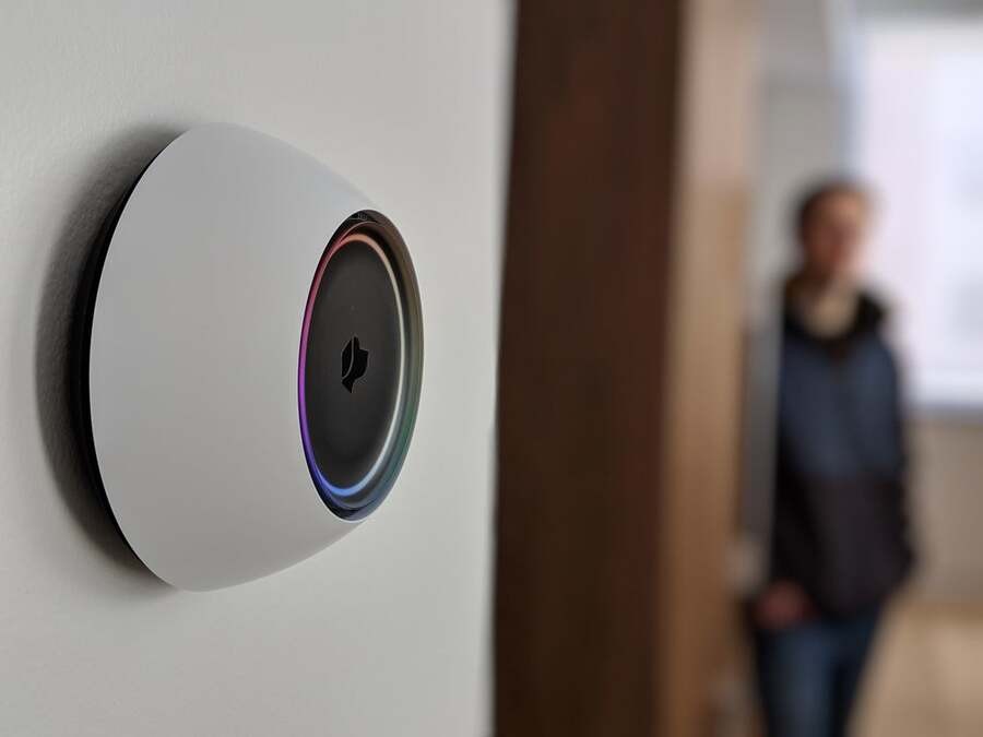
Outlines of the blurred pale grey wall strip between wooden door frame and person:
M 845 0 L 762 0 L 761 74 L 746 259 L 743 522 L 738 586 L 765 573 L 771 524 L 779 294 L 794 259 L 789 212 L 801 190 L 840 171 L 851 91 L 843 69 Z

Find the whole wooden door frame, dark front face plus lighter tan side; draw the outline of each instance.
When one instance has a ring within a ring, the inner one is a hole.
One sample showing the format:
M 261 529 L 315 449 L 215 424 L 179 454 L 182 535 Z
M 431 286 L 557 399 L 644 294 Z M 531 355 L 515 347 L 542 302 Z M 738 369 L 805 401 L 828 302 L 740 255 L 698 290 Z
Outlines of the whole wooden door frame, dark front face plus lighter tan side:
M 519 0 L 497 737 L 711 733 L 755 0 Z

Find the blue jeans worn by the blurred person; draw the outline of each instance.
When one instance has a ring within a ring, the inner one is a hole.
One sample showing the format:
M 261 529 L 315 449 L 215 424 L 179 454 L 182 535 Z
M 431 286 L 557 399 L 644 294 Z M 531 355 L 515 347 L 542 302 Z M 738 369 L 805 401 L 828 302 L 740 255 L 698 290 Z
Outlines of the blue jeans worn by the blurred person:
M 879 610 L 755 633 L 769 737 L 844 737 Z

